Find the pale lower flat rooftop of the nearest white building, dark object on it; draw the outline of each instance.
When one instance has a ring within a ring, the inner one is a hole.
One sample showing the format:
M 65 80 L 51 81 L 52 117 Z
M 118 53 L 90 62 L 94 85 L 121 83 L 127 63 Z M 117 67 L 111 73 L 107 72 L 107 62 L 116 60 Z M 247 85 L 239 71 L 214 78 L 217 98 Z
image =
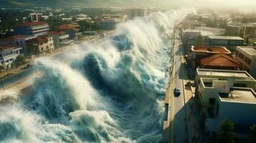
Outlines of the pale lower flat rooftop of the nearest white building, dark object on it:
M 256 104 L 255 92 L 252 89 L 240 89 L 234 88 L 231 89 L 229 94 L 219 93 L 219 97 L 224 102 L 245 102 L 245 103 L 254 103 Z

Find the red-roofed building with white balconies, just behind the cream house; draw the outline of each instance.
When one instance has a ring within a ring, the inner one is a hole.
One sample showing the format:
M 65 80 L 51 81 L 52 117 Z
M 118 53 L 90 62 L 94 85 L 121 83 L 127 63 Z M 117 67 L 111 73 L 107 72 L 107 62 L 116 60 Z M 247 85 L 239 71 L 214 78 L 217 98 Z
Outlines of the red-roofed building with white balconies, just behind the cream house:
M 69 39 L 70 35 L 66 34 L 64 31 L 51 31 L 48 35 L 52 36 L 54 49 L 74 43 L 74 40 Z

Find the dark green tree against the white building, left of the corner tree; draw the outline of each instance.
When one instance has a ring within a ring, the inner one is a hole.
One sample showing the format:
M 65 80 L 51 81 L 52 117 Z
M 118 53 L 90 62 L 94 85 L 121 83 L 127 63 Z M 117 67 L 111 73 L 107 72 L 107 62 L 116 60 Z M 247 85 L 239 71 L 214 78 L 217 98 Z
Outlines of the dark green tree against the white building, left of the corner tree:
M 219 123 L 217 140 L 219 143 L 234 143 L 234 123 L 229 119 Z

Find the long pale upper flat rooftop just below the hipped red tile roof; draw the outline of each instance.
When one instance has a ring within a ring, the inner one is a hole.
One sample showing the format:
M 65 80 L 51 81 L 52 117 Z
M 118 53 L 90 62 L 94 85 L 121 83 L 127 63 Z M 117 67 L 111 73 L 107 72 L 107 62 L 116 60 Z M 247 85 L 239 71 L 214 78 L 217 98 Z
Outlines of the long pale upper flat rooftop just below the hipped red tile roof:
M 251 80 L 253 77 L 247 73 L 247 71 L 234 71 L 234 70 L 222 70 L 222 69 L 196 69 L 198 75 L 204 76 L 217 76 L 217 77 L 242 77 Z

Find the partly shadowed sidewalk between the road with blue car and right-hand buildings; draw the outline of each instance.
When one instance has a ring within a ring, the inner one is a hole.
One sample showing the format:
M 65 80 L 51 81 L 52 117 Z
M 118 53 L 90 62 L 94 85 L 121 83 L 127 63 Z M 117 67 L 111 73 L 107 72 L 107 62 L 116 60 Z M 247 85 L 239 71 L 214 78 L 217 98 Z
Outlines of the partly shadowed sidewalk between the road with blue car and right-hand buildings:
M 182 57 L 182 63 L 184 63 L 184 58 Z M 185 104 L 186 104 L 186 121 L 188 126 L 189 133 L 189 142 L 198 143 L 203 141 L 203 131 L 201 127 L 200 114 L 199 109 L 196 105 L 196 98 L 193 97 L 192 87 L 186 87 L 187 82 L 191 82 L 189 80 L 189 73 L 186 69 L 183 71 L 184 74 L 184 95 L 185 95 Z

